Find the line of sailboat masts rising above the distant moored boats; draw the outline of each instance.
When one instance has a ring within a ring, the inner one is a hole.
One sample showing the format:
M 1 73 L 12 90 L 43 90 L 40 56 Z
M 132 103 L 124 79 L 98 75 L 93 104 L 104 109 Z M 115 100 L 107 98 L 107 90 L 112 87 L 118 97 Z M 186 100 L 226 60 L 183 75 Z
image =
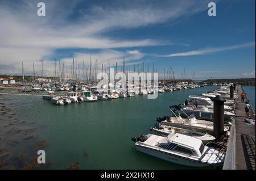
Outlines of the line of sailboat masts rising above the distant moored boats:
M 44 77 L 52 77 L 53 79 L 55 79 L 55 81 L 60 81 L 60 82 L 67 82 L 67 81 L 75 81 L 75 82 L 97 82 L 97 74 L 98 74 L 98 61 L 97 59 L 95 60 L 94 66 L 92 65 L 92 61 L 91 58 L 89 56 L 89 60 L 90 60 L 90 64 L 89 64 L 89 68 L 87 66 L 85 66 L 85 62 L 82 61 L 82 77 L 80 74 L 80 66 L 79 64 L 77 64 L 77 58 L 73 58 L 73 64 L 70 65 L 70 70 L 66 69 L 64 70 L 64 63 L 61 64 L 60 60 L 59 60 L 59 70 L 57 70 L 57 61 L 55 58 L 55 64 L 54 64 L 54 70 L 53 70 L 53 74 L 51 76 L 51 73 L 44 74 L 43 71 L 43 60 L 42 60 L 42 79 Z M 117 62 L 115 62 L 115 64 L 113 64 L 112 66 L 110 66 L 110 61 L 108 60 L 108 76 L 110 77 L 110 68 L 114 68 L 114 73 L 116 74 L 118 72 L 118 64 Z M 119 66 L 119 70 L 123 73 L 127 74 L 129 72 L 134 72 L 134 73 L 149 73 L 150 69 L 149 69 L 149 64 L 147 64 L 147 68 L 146 71 L 144 69 L 144 62 L 142 62 L 142 66 L 140 67 L 139 64 L 134 64 L 133 69 L 130 69 L 128 65 L 126 65 L 125 63 L 125 58 L 123 58 L 123 65 Z M 104 70 L 104 71 L 103 71 Z M 106 64 L 101 64 L 101 72 L 106 73 Z M 158 69 L 155 69 L 154 64 L 152 64 L 152 69 L 151 69 L 151 73 L 154 72 L 158 72 Z M 34 81 L 35 81 L 35 65 L 33 62 L 33 75 L 34 75 Z M 46 75 L 46 76 L 44 76 Z M 24 65 L 22 62 L 22 78 L 24 81 Z M 164 74 L 163 74 L 163 79 L 164 81 L 172 81 L 175 82 L 175 74 L 174 71 L 172 70 L 172 66 L 170 66 L 170 69 L 166 69 L 164 68 Z M 195 79 L 195 70 L 193 71 L 193 75 L 191 80 L 193 81 L 193 79 Z M 183 71 L 181 71 L 181 80 L 185 81 L 186 80 L 186 72 L 185 72 L 185 68 L 184 68 L 184 78 L 183 78 Z

